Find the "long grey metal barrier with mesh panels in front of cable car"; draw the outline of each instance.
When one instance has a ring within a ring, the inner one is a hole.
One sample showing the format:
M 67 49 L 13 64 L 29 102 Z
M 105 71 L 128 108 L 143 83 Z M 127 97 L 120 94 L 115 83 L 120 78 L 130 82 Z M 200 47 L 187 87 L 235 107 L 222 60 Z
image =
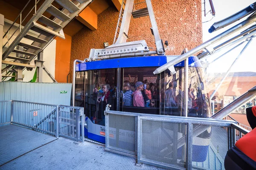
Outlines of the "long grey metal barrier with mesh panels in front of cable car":
M 236 130 L 234 121 L 105 111 L 106 150 L 137 156 L 163 168 L 224 169 Z

